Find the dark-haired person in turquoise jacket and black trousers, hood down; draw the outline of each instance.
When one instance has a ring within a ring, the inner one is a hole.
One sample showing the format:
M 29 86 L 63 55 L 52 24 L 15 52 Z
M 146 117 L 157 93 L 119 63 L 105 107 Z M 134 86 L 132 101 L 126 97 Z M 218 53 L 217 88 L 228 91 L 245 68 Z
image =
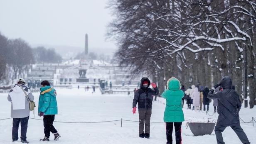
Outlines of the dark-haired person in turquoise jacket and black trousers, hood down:
M 53 126 L 55 115 L 58 114 L 56 90 L 51 88 L 49 81 L 42 81 L 40 91 L 38 115 L 44 116 L 44 139 L 40 141 L 49 141 L 50 132 L 54 134 L 54 140 L 57 141 L 60 135 Z

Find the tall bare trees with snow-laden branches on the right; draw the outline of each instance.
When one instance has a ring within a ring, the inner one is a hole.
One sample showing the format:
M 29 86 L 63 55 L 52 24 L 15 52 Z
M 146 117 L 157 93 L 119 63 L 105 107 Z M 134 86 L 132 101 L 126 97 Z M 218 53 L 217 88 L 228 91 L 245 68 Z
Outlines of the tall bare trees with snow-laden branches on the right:
M 171 76 L 186 87 L 230 76 L 242 101 L 248 84 L 250 107 L 256 105 L 256 2 L 110 0 L 109 7 L 116 59 L 151 74 L 160 91 Z

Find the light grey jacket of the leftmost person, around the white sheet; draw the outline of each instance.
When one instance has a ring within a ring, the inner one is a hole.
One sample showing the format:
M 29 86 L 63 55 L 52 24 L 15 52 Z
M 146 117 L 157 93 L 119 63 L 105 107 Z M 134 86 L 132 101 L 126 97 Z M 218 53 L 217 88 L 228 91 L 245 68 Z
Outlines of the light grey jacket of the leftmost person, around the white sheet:
M 15 84 L 17 85 L 17 84 Z M 10 90 L 10 93 L 8 94 L 8 101 L 12 102 L 12 98 L 11 98 L 11 93 L 15 93 L 15 85 L 14 87 Z M 24 85 L 23 83 L 19 84 L 27 93 L 28 98 L 30 99 L 30 101 L 34 100 L 34 95 L 31 93 L 30 88 L 27 87 L 26 85 Z M 22 90 L 18 91 L 19 95 L 21 97 L 25 97 L 25 94 Z M 29 101 L 27 100 L 27 98 L 25 98 L 25 109 L 24 110 L 13 110 L 12 106 L 11 106 L 11 117 L 12 118 L 23 118 L 23 117 L 28 117 L 30 115 L 30 108 L 29 108 Z

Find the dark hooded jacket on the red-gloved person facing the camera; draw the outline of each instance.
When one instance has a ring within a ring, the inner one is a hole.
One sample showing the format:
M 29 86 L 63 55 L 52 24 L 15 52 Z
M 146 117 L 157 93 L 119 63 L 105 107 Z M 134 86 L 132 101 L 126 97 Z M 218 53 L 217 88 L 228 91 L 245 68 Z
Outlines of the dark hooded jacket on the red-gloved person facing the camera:
M 138 110 L 151 110 L 152 109 L 152 95 L 158 95 L 158 88 L 144 88 L 143 81 L 148 81 L 148 87 L 150 86 L 150 81 L 148 78 L 142 78 L 140 81 L 140 89 L 135 91 L 133 99 L 133 107 L 136 107 L 138 103 Z

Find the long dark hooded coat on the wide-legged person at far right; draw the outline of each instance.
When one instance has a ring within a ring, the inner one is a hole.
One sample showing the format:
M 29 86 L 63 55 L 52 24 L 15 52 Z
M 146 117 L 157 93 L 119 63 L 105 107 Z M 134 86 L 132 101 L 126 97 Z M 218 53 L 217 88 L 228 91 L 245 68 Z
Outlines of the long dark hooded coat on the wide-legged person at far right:
M 217 98 L 218 101 L 218 122 L 217 125 L 230 126 L 239 124 L 239 111 L 241 109 L 241 101 L 235 90 L 231 89 L 232 81 L 229 76 L 222 78 L 220 82 L 223 91 L 214 94 L 209 92 L 208 98 Z

